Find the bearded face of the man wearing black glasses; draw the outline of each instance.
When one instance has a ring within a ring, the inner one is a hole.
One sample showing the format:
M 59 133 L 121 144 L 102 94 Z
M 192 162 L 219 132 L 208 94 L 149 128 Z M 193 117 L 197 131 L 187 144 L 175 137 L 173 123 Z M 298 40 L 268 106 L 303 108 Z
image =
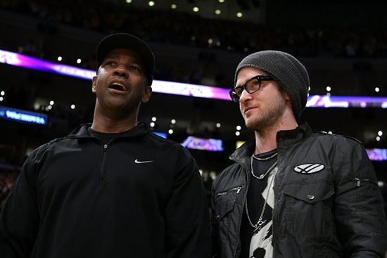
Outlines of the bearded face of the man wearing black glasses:
M 243 67 L 236 80 L 236 86 L 245 84 L 257 75 L 267 76 L 265 72 L 254 67 Z M 281 91 L 275 81 L 262 81 L 259 91 L 248 93 L 243 90 L 239 100 L 246 127 L 254 131 L 270 129 L 281 123 L 286 108 L 288 95 Z

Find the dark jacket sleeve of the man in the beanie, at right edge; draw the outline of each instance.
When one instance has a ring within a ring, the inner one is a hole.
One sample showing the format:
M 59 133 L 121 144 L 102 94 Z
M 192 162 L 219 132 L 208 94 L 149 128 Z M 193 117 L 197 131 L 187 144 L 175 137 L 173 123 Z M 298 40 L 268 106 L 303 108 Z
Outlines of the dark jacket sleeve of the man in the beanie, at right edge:
M 383 257 L 387 226 L 376 173 L 363 146 L 353 143 L 336 178 L 338 238 L 345 257 Z

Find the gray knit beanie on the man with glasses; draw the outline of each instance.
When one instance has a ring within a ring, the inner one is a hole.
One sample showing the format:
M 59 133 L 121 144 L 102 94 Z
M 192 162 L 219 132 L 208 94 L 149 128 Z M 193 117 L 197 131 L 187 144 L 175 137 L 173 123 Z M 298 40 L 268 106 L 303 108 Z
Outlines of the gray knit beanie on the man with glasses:
M 243 67 L 258 68 L 272 77 L 288 93 L 293 105 L 294 117 L 297 122 L 300 121 L 309 91 L 309 76 L 300 61 L 281 51 L 267 50 L 252 53 L 243 58 L 236 68 L 234 86 L 236 86 L 238 72 Z

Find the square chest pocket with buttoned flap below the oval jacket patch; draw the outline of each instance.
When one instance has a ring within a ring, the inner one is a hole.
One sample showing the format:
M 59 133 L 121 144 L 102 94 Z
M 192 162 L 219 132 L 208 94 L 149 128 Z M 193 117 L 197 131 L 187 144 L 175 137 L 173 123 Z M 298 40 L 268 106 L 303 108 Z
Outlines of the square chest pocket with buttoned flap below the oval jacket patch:
M 329 238 L 332 235 L 334 186 L 294 183 L 284 187 L 286 229 L 293 236 Z

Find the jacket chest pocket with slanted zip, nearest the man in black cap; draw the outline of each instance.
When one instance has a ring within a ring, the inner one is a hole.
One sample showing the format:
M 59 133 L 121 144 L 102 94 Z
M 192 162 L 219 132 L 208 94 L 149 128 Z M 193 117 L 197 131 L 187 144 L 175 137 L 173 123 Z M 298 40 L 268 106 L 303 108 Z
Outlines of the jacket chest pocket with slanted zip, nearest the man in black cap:
M 215 194 L 215 212 L 212 223 L 219 224 L 219 236 L 224 241 L 227 241 L 231 211 L 234 209 L 240 191 L 241 186 L 238 186 Z

